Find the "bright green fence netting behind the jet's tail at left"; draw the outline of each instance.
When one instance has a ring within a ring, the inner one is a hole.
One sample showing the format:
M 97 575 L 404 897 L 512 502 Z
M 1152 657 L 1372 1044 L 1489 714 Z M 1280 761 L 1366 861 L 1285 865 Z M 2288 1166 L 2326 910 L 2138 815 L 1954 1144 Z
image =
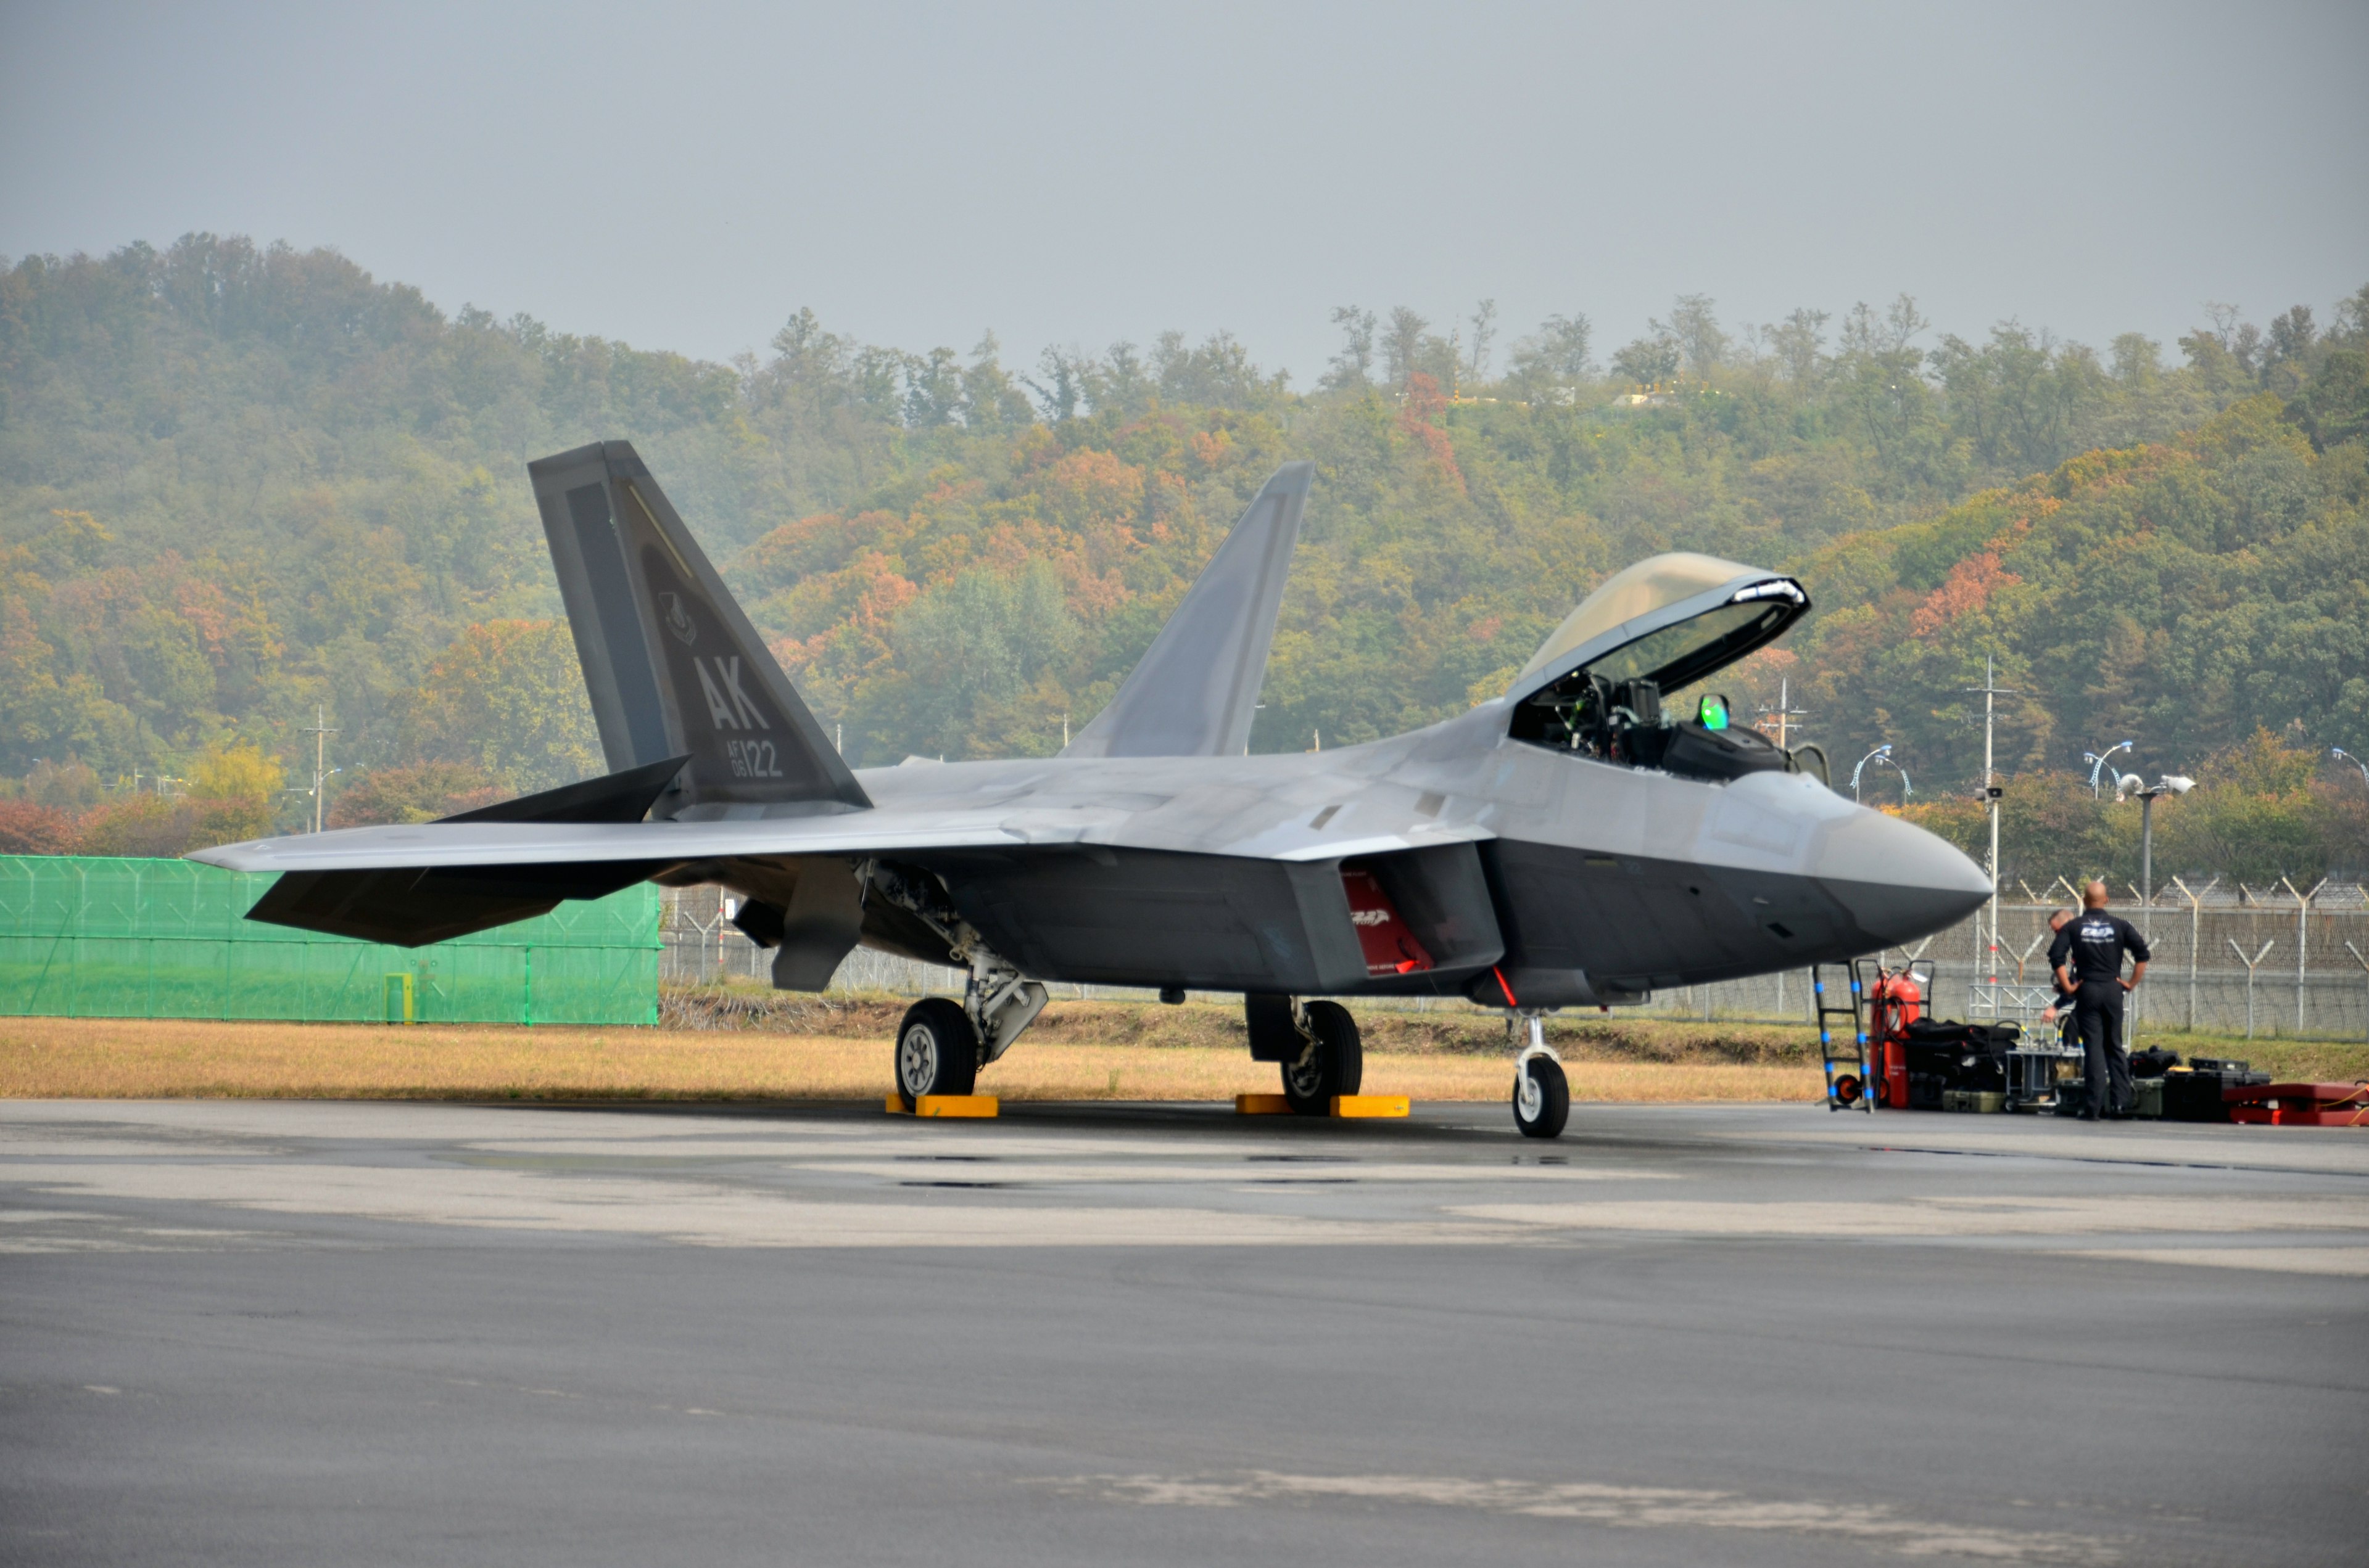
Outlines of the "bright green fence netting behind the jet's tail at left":
M 246 919 L 270 876 L 0 855 L 0 1016 L 656 1023 L 659 888 L 434 947 Z

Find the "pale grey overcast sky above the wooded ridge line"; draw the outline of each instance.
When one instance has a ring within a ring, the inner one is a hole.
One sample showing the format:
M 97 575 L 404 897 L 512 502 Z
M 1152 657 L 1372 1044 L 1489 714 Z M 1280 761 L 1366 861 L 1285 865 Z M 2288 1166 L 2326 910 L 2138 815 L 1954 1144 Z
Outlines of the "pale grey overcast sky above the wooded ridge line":
M 723 358 L 1900 291 L 2170 341 L 2369 282 L 2369 5 L 0 0 L 0 256 L 336 246 Z M 1931 339 L 1928 339 L 1931 341 Z

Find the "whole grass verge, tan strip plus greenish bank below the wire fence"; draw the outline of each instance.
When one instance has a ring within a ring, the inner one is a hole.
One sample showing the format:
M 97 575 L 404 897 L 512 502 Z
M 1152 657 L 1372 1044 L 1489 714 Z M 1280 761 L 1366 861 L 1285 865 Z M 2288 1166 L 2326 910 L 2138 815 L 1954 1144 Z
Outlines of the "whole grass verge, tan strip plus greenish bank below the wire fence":
M 905 997 L 668 990 L 661 1028 L 5 1018 L 7 1099 L 874 1099 Z M 1511 1042 L 1490 1014 L 1367 1009 L 1365 1087 L 1502 1099 Z M 1547 1037 L 1592 1101 L 1815 1101 L 1803 1026 L 1580 1014 Z M 2243 1056 L 2274 1078 L 2369 1078 L 2369 1045 L 2161 1035 L 2184 1056 Z M 1203 1099 L 1272 1092 L 1239 1007 L 1054 1002 L 981 1075 L 1007 1099 Z

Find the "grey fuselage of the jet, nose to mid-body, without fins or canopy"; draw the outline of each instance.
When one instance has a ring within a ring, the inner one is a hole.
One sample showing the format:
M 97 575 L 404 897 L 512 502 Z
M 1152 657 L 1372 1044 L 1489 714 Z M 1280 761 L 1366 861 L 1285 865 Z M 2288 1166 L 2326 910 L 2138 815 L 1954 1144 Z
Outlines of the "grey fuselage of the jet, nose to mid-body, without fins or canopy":
M 1092 822 L 1068 855 L 905 855 L 1045 981 L 1445 995 L 1495 971 L 1483 1000 L 1597 1004 L 1874 952 L 1990 898 L 1954 848 L 1808 775 L 1699 782 L 1604 763 L 1509 739 L 1502 701 L 1322 753 L 907 763 L 858 777 L 893 815 Z M 1402 912 L 1431 933 L 1464 921 L 1433 936 L 1433 969 L 1348 978 L 1346 955 L 1312 952 L 1320 921 L 1286 914 L 1336 888 L 1343 862 L 1429 862 L 1421 886 L 1398 893 Z M 1426 891 L 1445 907 L 1407 907 Z M 940 957 L 874 921 L 865 938 Z

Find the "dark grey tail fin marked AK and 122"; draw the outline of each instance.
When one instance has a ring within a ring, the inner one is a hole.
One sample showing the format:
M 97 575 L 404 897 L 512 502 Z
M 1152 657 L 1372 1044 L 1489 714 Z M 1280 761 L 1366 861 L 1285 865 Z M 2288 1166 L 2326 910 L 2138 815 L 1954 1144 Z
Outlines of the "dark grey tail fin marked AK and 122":
M 609 772 L 687 756 L 659 817 L 694 805 L 872 805 L 630 443 L 526 471 Z

